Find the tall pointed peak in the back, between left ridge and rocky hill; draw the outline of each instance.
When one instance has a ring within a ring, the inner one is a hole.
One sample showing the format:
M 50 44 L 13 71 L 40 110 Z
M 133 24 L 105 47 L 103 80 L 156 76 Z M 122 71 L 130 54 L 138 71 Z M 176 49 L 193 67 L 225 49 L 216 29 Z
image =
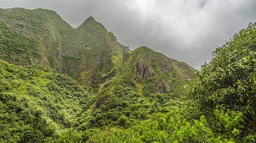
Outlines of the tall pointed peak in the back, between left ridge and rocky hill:
M 105 81 L 102 74 L 107 74 L 116 57 L 125 51 L 130 50 L 117 42 L 101 23 L 89 17 L 75 29 L 63 48 L 63 71 L 82 85 L 97 88 Z

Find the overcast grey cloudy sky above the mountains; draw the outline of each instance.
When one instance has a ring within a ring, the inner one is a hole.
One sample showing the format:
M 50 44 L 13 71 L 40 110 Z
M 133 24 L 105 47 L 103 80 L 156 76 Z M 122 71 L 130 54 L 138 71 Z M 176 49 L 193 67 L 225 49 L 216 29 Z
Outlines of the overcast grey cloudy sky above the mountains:
M 196 69 L 256 22 L 256 0 L 0 0 L 12 7 L 54 10 L 74 28 L 92 16 L 131 50 L 147 46 Z

